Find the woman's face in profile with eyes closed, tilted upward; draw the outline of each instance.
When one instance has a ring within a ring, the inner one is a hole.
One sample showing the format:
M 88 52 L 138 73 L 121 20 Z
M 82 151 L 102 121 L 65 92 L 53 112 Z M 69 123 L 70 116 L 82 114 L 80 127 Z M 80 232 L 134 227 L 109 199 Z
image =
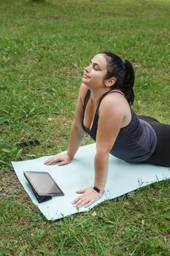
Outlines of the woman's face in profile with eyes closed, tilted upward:
M 85 67 L 82 83 L 88 87 L 98 88 L 104 86 L 104 78 L 107 75 L 107 61 L 104 54 L 99 53 L 93 57 L 88 67 Z

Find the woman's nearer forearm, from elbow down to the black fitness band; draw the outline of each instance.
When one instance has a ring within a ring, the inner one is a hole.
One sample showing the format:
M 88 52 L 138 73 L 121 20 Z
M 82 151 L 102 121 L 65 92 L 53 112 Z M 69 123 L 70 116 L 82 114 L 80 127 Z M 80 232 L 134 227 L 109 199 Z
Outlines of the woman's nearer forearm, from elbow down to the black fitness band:
M 105 153 L 105 154 L 96 153 L 96 156 L 94 159 L 94 167 L 95 167 L 94 186 L 98 187 L 98 189 L 100 189 L 101 192 L 104 191 L 104 187 L 107 183 L 108 163 L 109 163 L 109 153 Z

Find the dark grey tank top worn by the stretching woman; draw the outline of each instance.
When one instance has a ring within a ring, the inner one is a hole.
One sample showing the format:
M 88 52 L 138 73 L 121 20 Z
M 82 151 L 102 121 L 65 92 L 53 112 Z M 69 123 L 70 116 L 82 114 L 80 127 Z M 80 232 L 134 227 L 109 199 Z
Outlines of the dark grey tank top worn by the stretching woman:
M 85 96 L 82 115 L 82 129 L 84 129 L 85 132 L 93 138 L 93 140 L 96 140 L 96 132 L 98 129 L 98 109 L 100 107 L 101 100 L 108 93 L 122 94 L 118 91 L 109 91 L 101 96 L 98 101 L 91 129 L 87 129 L 84 125 L 85 108 L 90 98 L 90 90 L 88 90 Z M 139 119 L 134 110 L 131 109 L 131 121 L 126 127 L 120 129 L 110 154 L 119 159 L 123 159 L 126 162 L 142 162 L 152 155 L 155 150 L 156 142 L 157 137 L 155 130 L 152 129 L 151 125 L 146 121 Z

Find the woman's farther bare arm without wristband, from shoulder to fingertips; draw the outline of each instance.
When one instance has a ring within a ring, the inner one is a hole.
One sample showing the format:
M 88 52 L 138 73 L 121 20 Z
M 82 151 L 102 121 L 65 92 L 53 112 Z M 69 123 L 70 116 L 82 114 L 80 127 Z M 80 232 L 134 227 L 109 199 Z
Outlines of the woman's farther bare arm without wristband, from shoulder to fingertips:
M 58 165 L 66 165 L 72 161 L 74 154 L 76 154 L 77 149 L 82 143 L 82 139 L 85 132 L 82 129 L 82 113 L 83 113 L 83 102 L 85 99 L 85 94 L 88 88 L 83 83 L 80 86 L 79 96 L 77 99 L 77 106 L 75 110 L 74 120 L 72 122 L 72 127 L 70 130 L 69 146 L 66 154 L 56 154 L 53 157 L 47 159 L 44 163 L 45 165 L 51 165 L 54 162 L 60 162 Z

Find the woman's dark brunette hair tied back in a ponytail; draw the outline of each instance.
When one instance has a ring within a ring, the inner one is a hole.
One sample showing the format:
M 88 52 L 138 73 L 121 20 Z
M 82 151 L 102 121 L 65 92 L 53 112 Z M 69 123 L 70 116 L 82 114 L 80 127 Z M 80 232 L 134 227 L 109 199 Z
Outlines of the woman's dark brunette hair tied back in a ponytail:
M 120 59 L 114 53 L 104 52 L 107 60 L 107 75 L 105 79 L 116 78 L 116 83 L 111 89 L 119 89 L 125 94 L 129 105 L 134 103 L 134 68 L 131 62 Z

